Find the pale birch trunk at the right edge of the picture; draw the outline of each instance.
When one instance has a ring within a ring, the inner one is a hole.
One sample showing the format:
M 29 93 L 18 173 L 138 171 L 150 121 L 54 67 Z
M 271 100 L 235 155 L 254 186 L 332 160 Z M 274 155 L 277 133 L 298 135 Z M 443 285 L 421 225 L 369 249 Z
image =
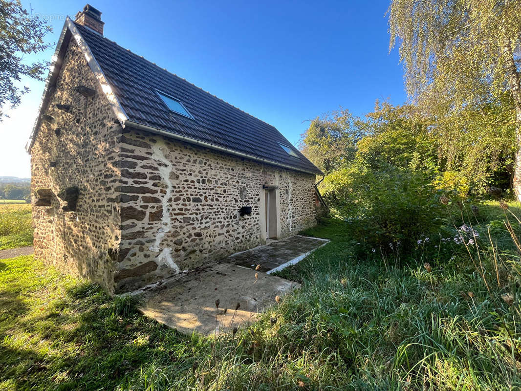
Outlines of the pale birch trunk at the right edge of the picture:
M 506 60 L 506 77 L 512 91 L 514 105 L 516 108 L 516 167 L 514 170 L 514 191 L 517 199 L 521 201 L 521 85 L 519 72 L 514 62 L 514 53 L 510 39 L 505 41 L 503 55 Z

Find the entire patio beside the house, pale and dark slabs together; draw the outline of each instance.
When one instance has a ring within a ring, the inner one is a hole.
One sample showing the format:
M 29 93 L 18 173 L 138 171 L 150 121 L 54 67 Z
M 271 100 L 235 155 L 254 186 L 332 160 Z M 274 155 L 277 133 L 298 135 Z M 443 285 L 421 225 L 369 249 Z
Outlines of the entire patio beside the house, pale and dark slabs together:
M 269 273 L 299 262 L 327 242 L 293 236 L 233 254 L 136 292 L 143 299 L 140 310 L 185 334 L 212 335 L 244 327 L 274 304 L 276 296 L 282 298 L 300 286 Z

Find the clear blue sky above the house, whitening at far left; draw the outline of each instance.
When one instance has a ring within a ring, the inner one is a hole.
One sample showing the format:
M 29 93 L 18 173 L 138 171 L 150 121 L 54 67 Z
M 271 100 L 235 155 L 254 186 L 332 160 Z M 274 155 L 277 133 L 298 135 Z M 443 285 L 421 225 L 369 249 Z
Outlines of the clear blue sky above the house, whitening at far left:
M 388 0 L 91 4 L 102 11 L 107 38 L 274 125 L 294 144 L 307 120 L 339 106 L 363 115 L 377 99 L 406 100 L 398 52 L 388 51 Z M 56 42 L 65 16 L 85 0 L 31 5 L 54 27 L 47 40 Z M 0 176 L 30 175 L 23 146 L 43 82 L 23 83 L 32 92 L 0 123 Z

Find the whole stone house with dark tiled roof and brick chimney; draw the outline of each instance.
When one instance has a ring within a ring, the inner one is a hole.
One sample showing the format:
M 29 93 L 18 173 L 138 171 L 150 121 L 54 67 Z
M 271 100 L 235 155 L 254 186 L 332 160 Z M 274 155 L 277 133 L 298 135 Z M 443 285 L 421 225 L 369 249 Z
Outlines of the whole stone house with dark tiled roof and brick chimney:
M 273 126 L 67 18 L 27 145 L 34 248 L 133 290 L 316 223 L 320 170 Z

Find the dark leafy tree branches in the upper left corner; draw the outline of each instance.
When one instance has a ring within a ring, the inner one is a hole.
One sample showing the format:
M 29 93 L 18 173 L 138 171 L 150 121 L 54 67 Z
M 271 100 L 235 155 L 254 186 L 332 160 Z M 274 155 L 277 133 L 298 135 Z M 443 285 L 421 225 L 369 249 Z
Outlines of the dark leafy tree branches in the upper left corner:
M 24 57 L 46 50 L 50 45 L 43 38 L 50 31 L 51 27 L 30 15 L 19 0 L 0 0 L 0 120 L 4 104 L 16 107 L 21 95 L 29 91 L 17 85 L 22 76 L 43 78 L 48 63 L 27 64 Z

